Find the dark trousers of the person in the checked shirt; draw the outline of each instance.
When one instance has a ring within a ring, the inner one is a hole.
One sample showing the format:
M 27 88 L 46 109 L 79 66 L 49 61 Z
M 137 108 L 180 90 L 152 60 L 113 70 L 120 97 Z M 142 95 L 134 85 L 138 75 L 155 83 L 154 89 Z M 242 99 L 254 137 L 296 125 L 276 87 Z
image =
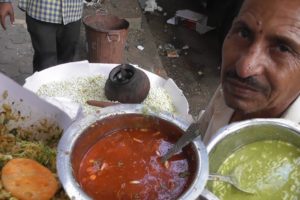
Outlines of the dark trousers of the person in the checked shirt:
M 34 49 L 33 72 L 73 61 L 81 20 L 63 25 L 42 22 L 26 15 L 26 23 Z

